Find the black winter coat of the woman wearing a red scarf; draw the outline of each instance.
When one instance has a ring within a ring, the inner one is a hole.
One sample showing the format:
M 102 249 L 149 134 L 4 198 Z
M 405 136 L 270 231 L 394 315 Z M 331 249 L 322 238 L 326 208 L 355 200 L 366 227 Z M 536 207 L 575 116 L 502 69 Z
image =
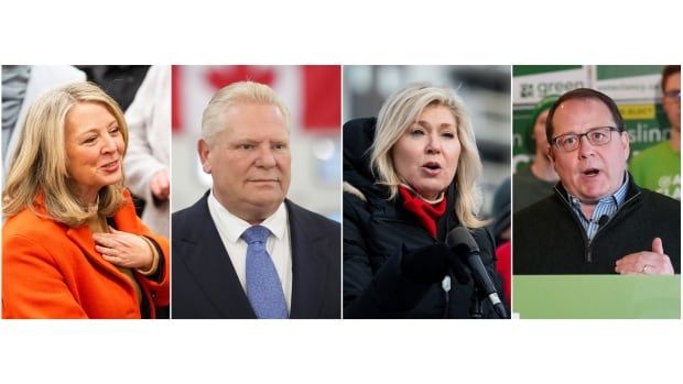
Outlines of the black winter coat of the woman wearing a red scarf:
M 400 196 L 387 200 L 387 188 L 375 184 L 368 151 L 375 124 L 376 119 L 344 124 L 344 318 L 469 318 L 473 304 L 481 303 L 473 279 L 459 284 L 448 273 L 444 281 L 420 283 L 401 268 L 403 254 L 443 243 L 448 232 L 459 226 L 454 210 L 455 186 L 448 188 L 446 213 L 437 222 L 435 240 L 403 208 Z M 471 234 L 502 294 L 490 232 L 480 228 Z M 481 309 L 483 317 L 496 317 L 487 300 Z

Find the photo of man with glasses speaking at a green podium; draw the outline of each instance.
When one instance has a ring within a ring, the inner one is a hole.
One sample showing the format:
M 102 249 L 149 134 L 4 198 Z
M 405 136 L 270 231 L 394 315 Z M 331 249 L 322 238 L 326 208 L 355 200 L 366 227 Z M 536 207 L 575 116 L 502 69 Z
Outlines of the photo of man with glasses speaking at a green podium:
M 513 66 L 513 311 L 681 317 L 681 67 Z

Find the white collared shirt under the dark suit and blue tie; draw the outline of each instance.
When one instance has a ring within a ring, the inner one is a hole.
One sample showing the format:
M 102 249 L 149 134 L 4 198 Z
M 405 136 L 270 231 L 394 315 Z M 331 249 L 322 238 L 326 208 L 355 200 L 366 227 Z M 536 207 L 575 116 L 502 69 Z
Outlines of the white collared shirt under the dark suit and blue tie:
M 223 245 L 230 256 L 232 267 L 245 293 L 247 292 L 247 242 L 241 238 L 242 233 L 251 224 L 230 213 L 214 196 L 214 189 L 208 195 L 208 211 L 218 229 Z M 292 308 L 292 248 L 290 246 L 290 226 L 284 202 L 275 212 L 263 220 L 260 226 L 270 230 L 265 249 L 273 260 L 282 290 L 286 299 L 288 311 Z

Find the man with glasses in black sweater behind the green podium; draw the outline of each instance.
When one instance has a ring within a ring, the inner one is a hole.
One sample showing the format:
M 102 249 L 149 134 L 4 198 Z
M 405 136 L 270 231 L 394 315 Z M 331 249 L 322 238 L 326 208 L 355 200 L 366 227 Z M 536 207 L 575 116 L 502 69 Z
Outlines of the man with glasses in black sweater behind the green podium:
M 680 273 L 680 201 L 641 189 L 626 171 L 629 135 L 614 100 L 566 92 L 545 134 L 560 183 L 514 215 L 514 274 Z

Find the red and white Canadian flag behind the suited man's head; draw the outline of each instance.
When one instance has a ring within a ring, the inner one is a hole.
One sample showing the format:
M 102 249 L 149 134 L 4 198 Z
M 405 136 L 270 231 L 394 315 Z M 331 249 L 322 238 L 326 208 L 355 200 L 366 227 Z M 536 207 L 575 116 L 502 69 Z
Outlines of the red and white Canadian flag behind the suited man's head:
M 200 131 L 202 113 L 214 94 L 232 83 L 262 83 L 282 98 L 293 130 L 338 132 L 342 120 L 342 67 L 173 66 L 173 131 Z

